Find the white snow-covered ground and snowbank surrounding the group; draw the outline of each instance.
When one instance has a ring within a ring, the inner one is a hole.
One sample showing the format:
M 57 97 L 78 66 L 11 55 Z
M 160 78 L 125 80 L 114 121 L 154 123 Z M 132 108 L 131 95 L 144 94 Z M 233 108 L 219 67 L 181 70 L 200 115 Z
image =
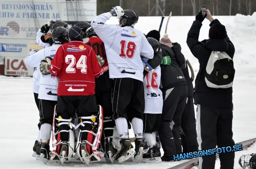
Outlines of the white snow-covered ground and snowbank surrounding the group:
M 254 106 L 256 86 L 256 13 L 252 16 L 219 16 L 216 17 L 226 26 L 228 36 L 236 48 L 234 63 L 236 77 L 234 80 L 234 119 L 233 131 L 235 142 L 244 141 L 256 137 L 256 109 Z M 158 30 L 161 17 L 140 17 L 135 28 L 148 33 L 152 29 Z M 166 19 L 167 20 L 167 19 Z M 162 26 L 163 35 L 166 20 Z M 182 46 L 182 52 L 189 59 L 195 72 L 199 64 L 192 56 L 186 45 L 188 30 L 194 21 L 194 17 L 172 17 L 168 34 L 172 42 L 178 42 Z M 108 23 L 117 24 L 112 18 Z M 209 22 L 205 20 L 200 32 L 200 40 L 208 37 Z M 25 57 L 25 56 L 24 56 Z M 34 103 L 31 78 L 12 78 L 0 76 L 0 169 L 58 169 L 60 165 L 44 165 L 32 157 L 32 145 L 37 137 L 38 110 Z M 240 169 L 238 159 L 242 154 L 256 153 L 256 145 L 248 151 L 236 152 L 235 167 Z M 167 169 L 180 162 L 163 162 L 160 164 L 145 164 L 126 162 L 124 164 L 109 165 L 94 163 L 90 167 L 76 161 L 65 164 L 64 168 L 94 168 L 94 169 Z M 216 168 L 220 168 L 219 161 Z

